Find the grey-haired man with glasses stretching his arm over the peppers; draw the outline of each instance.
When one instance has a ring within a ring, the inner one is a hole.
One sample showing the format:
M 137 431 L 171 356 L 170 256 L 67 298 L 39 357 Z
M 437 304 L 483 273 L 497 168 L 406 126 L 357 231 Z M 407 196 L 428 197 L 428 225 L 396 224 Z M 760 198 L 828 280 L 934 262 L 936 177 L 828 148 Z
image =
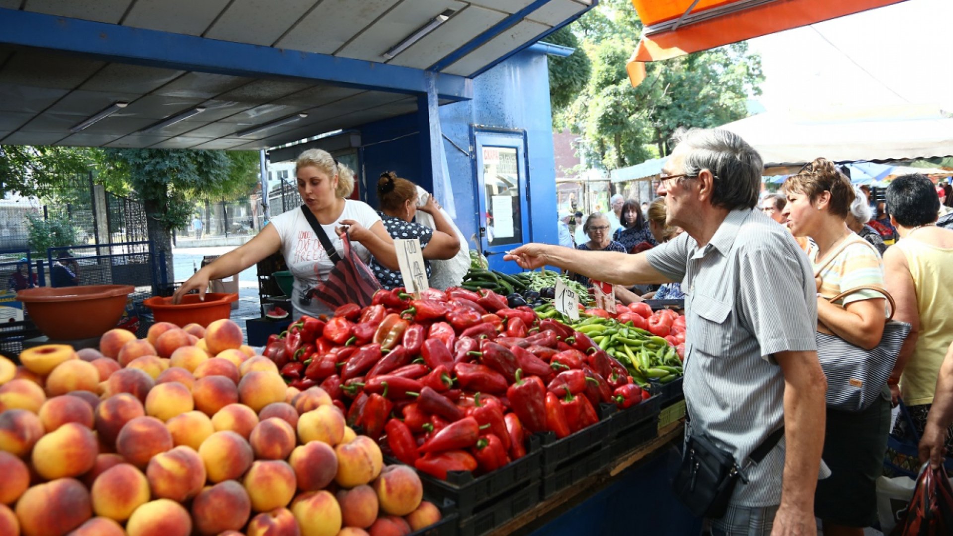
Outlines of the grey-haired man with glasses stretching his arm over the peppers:
M 739 135 L 690 130 L 675 142 L 658 194 L 682 235 L 639 255 L 533 243 L 506 258 L 622 285 L 681 282 L 686 442 L 714 445 L 744 477 L 727 508 L 700 508 L 688 485 L 677 493 L 706 512 L 712 534 L 815 534 L 814 490 L 828 473 L 810 264 L 786 229 L 755 210 L 763 164 Z M 683 469 L 699 451 L 689 450 Z M 752 464 L 756 450 L 766 455 Z

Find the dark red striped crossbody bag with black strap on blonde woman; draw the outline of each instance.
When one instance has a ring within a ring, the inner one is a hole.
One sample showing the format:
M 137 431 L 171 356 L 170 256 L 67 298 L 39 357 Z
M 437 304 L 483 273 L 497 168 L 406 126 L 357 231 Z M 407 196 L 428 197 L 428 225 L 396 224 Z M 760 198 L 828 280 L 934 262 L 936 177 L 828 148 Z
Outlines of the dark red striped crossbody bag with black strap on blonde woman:
M 328 258 L 335 263 L 331 269 L 328 278 L 318 283 L 313 289 L 314 297 L 320 299 L 325 305 L 336 309 L 345 303 L 356 303 L 361 307 L 371 305 L 374 299 L 374 293 L 380 290 L 380 282 L 374 277 L 371 269 L 364 264 L 364 261 L 357 257 L 354 248 L 351 246 L 351 238 L 345 233 L 341 237 L 344 243 L 344 257 L 337 254 L 335 246 L 331 243 L 328 234 L 314 217 L 307 206 L 301 207 L 305 219 L 311 224 L 314 235 L 321 240 L 321 245 L 328 253 Z

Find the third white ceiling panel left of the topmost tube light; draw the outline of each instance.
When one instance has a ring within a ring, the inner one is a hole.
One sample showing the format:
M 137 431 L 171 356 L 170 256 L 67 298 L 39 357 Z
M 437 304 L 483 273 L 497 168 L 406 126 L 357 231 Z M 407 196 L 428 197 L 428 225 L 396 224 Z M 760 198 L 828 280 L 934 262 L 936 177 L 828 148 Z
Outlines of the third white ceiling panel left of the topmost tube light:
M 315 0 L 283 0 L 276 6 L 271 0 L 235 0 L 205 37 L 270 47 L 314 3 Z

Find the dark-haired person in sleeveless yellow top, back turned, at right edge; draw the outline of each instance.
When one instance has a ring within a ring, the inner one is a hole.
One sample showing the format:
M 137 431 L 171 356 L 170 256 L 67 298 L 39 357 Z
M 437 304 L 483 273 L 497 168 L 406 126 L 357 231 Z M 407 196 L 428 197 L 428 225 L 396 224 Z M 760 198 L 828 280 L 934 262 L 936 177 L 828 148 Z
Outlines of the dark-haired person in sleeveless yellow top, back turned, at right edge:
M 920 435 L 943 356 L 953 341 L 953 231 L 936 226 L 940 198 L 925 176 L 895 178 L 886 196 L 901 237 L 883 256 L 887 288 L 897 302 L 894 319 L 912 326 L 887 383 L 895 398 L 902 395 Z M 908 433 L 906 427 L 898 419 L 895 433 Z M 953 448 L 949 434 L 943 440 Z

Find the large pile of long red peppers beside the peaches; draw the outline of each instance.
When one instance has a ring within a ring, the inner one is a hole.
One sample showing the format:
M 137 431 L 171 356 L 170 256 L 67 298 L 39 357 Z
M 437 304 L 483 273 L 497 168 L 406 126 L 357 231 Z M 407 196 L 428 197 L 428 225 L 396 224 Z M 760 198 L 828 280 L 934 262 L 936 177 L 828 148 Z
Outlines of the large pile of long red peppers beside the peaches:
M 599 403 L 649 398 L 585 334 L 489 291 L 378 291 L 331 319 L 302 317 L 264 355 L 289 385 L 320 387 L 347 423 L 439 479 L 526 455 L 529 435 L 598 422 Z

